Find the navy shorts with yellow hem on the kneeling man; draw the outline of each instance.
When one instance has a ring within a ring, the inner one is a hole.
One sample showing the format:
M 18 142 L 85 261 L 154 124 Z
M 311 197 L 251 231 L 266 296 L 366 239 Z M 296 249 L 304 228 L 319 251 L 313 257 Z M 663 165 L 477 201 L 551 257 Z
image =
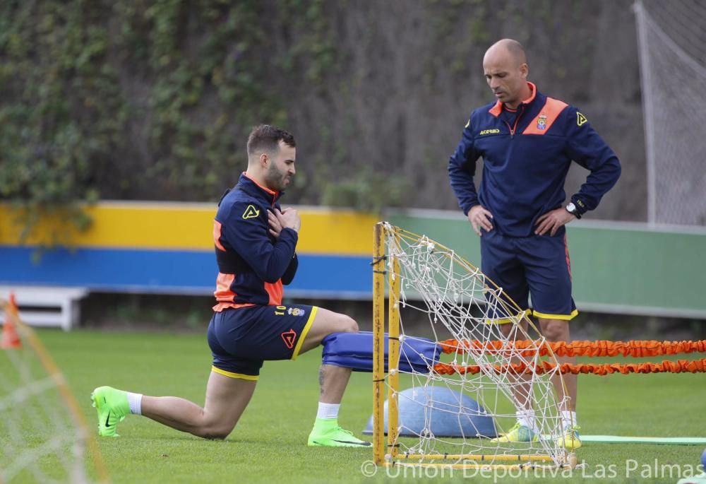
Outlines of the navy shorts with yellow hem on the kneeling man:
M 286 305 L 214 312 L 208 324 L 212 370 L 256 380 L 265 360 L 296 360 L 317 310 L 316 306 Z

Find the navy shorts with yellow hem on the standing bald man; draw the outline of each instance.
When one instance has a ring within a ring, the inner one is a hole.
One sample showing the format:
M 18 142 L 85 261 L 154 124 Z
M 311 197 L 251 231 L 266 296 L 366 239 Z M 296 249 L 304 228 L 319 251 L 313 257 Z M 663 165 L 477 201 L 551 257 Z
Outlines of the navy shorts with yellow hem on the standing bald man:
M 503 288 L 520 309 L 546 319 L 573 319 L 578 314 L 571 297 L 571 264 L 566 231 L 556 237 L 507 237 L 491 230 L 481 237 L 481 271 Z M 507 300 L 503 297 L 503 302 Z M 517 316 L 514 304 L 491 307 L 489 322 L 508 323 Z M 508 309 L 512 307 L 512 309 Z

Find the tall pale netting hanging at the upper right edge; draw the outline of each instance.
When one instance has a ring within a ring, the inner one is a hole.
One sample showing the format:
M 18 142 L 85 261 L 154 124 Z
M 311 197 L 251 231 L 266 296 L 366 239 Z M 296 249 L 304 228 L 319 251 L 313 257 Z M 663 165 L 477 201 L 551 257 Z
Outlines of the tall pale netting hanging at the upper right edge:
M 706 225 L 706 2 L 635 3 L 648 220 Z

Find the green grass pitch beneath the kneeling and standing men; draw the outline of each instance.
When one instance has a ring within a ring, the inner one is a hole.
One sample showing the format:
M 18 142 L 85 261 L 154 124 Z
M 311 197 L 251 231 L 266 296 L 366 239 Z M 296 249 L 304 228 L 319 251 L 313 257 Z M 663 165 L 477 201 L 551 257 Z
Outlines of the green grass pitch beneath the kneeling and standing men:
M 210 352 L 203 334 L 85 330 L 68 334 L 43 330 L 38 334 L 63 370 L 92 430 L 95 411 L 89 395 L 99 385 L 182 396 L 203 405 L 210 371 Z M 369 478 L 361 473 L 361 464 L 371 459 L 371 450 L 306 446 L 316 416 L 320 361 L 321 352 L 313 350 L 296 362 L 265 362 L 253 400 L 225 441 L 199 439 L 129 415 L 119 425 L 121 437 L 99 440 L 112 481 L 376 483 L 398 478 L 470 482 L 467 478 L 473 477 L 473 482 L 676 483 L 679 476 L 674 466 L 681 472 L 686 466 L 695 468 L 703 451 L 700 446 L 587 443 L 578 451 L 579 461 L 586 461 L 587 468 L 573 471 L 568 478 L 530 473 L 511 479 L 418 470 L 416 474 L 390 471 L 386 475 L 384 468 Z M 340 423 L 357 435 L 371 415 L 371 388 L 371 374 L 354 373 L 343 401 Z M 704 374 L 584 375 L 579 379 L 578 410 L 585 434 L 704 437 L 705 402 Z M 23 473 L 11 482 L 32 481 Z

